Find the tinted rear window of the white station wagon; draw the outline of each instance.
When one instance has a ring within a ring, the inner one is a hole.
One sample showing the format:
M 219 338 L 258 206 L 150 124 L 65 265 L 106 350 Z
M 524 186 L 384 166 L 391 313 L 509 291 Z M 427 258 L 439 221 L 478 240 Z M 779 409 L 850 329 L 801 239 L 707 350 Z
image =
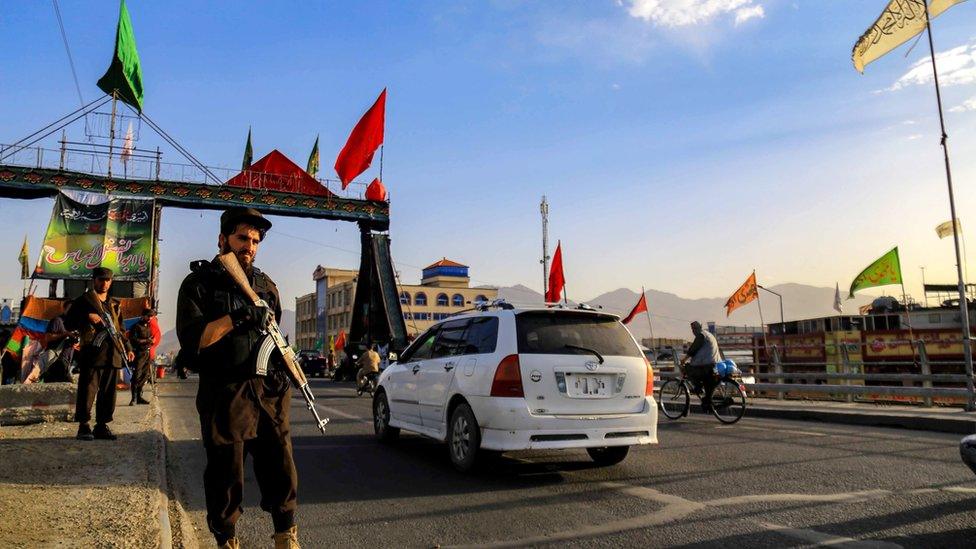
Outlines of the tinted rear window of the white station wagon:
M 530 311 L 516 315 L 518 350 L 525 354 L 587 354 L 639 357 L 627 329 L 610 316 L 571 311 Z M 570 345 L 572 347 L 567 347 Z

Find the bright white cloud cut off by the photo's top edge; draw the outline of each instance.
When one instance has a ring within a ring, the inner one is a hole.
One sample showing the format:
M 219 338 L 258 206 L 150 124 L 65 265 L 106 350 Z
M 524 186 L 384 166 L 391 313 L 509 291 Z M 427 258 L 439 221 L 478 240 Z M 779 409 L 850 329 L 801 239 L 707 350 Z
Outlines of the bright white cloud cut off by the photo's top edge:
M 766 12 L 756 0 L 629 0 L 628 12 L 662 27 L 685 27 L 708 23 L 720 15 L 732 14 L 735 25 L 762 18 Z

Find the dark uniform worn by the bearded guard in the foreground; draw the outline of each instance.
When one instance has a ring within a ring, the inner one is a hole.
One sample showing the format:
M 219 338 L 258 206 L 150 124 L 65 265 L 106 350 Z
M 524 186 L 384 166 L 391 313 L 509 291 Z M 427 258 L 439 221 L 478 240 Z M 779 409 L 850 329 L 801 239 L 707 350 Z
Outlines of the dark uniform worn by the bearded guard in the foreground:
M 199 348 L 208 323 L 250 302 L 216 258 L 195 261 L 190 269 L 180 287 L 176 331 L 183 351 L 192 352 Z M 274 282 L 257 269 L 249 278 L 280 320 Z M 246 454 L 254 460 L 261 508 L 271 513 L 275 531 L 294 524 L 298 475 L 288 418 L 291 385 L 281 365 L 272 364 L 266 377 L 254 373 L 261 340 L 256 330 L 238 327 L 193 357 L 193 369 L 200 374 L 197 411 L 207 451 L 203 475 L 207 522 L 223 537 L 234 535 L 242 511 Z

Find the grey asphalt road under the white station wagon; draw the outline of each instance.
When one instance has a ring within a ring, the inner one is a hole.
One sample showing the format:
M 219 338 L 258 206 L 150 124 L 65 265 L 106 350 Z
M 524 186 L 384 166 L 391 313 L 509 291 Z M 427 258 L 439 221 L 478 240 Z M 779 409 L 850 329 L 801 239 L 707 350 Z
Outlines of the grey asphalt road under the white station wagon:
M 312 382 L 322 436 L 293 401 L 299 529 L 307 547 L 541 545 L 973 547 L 976 477 L 958 436 L 710 416 L 667 422 L 661 443 L 615 467 L 585 452 L 506 455 L 455 473 L 443 446 L 374 442 L 370 402 L 349 384 Z M 173 489 L 200 529 L 203 451 L 196 384 L 161 384 Z M 239 534 L 270 545 L 248 476 Z

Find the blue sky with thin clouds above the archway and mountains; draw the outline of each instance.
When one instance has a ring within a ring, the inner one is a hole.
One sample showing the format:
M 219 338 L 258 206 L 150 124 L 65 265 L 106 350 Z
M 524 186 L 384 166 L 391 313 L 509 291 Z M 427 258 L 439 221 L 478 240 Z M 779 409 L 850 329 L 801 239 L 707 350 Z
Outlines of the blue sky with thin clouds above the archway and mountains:
M 383 181 L 404 283 L 448 257 L 471 267 L 475 285 L 541 290 L 546 195 L 549 237 L 562 242 L 574 300 L 641 286 L 725 297 L 753 269 L 761 284 L 845 288 L 896 245 L 908 292 L 920 299 L 922 266 L 929 283 L 955 282 L 952 241 L 934 231 L 950 216 L 927 41 L 863 75 L 850 60 L 886 4 L 130 0 L 128 8 L 145 111 L 209 166 L 239 166 L 250 127 L 255 159 L 277 148 L 299 165 L 318 135 L 323 175 L 334 177 L 349 131 L 387 88 Z M 95 82 L 110 60 L 118 4 L 59 6 L 90 101 L 101 94 Z M 973 236 L 976 2 L 933 27 L 957 211 Z M 52 3 L 4 2 L 0 143 L 78 106 Z M 84 136 L 83 126 L 69 132 Z M 159 143 L 143 128 L 137 146 Z M 182 161 L 172 151 L 164 160 Z M 52 204 L 0 199 L 8 258 L 0 296 L 20 295 L 21 242 L 26 234 L 36 255 Z M 218 215 L 163 211 L 164 328 L 189 262 L 216 251 Z M 314 290 L 316 265 L 358 267 L 355 225 L 271 219 L 257 265 L 286 307 Z

